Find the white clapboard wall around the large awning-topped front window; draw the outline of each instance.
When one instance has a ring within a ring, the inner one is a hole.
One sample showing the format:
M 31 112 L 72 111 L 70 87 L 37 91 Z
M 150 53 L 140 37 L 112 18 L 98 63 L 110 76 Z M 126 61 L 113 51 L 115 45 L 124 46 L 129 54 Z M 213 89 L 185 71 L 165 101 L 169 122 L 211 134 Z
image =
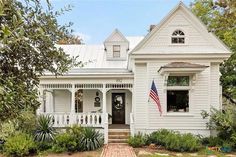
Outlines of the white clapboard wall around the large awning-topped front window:
M 144 64 L 136 64 L 136 74 L 134 78 L 136 84 L 135 114 L 138 115 L 135 116 L 136 132 L 151 132 L 160 128 L 166 128 L 181 132 L 188 129 L 192 133 L 198 133 L 197 130 L 200 129 L 205 130 L 205 134 L 208 134 L 209 131 L 206 130 L 207 121 L 202 119 L 201 112 L 202 110 L 209 111 L 210 108 L 210 68 L 206 68 L 203 72 L 197 74 L 197 81 L 193 87 L 194 89 L 190 90 L 190 112 L 185 115 L 184 113 L 181 113 L 181 115 L 174 116 L 166 113 L 167 102 L 166 90 L 164 88 L 164 76 L 158 73 L 158 69 L 161 66 L 170 62 L 173 62 L 173 60 L 157 60 L 148 62 L 147 74 L 145 73 L 146 66 L 144 66 Z M 186 62 L 207 66 L 210 65 L 207 61 L 186 60 Z M 146 78 L 146 76 L 148 78 Z M 148 82 L 145 82 L 145 78 Z M 153 79 L 155 80 L 160 97 L 163 116 L 160 116 L 157 106 L 152 100 L 150 100 L 150 102 L 146 101 L 148 99 L 149 90 L 144 90 L 146 88 L 145 85 L 147 84 L 148 89 L 150 89 Z M 146 119 L 147 121 L 145 122 Z M 145 124 L 147 128 L 142 129 Z

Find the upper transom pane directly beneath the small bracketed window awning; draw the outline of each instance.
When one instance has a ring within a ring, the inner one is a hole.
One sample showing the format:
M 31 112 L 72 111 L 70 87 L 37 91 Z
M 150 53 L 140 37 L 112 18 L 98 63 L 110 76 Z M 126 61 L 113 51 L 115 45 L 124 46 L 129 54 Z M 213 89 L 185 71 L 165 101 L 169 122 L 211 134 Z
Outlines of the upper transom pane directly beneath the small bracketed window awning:
M 189 76 L 169 76 L 167 86 L 189 86 Z

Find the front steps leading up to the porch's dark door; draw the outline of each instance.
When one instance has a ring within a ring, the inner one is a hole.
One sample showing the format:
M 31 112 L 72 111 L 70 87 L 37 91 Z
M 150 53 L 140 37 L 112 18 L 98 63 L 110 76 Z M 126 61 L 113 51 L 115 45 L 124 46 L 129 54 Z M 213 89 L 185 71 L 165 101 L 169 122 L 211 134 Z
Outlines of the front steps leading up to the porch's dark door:
M 125 144 L 130 136 L 130 129 L 109 129 L 108 143 Z

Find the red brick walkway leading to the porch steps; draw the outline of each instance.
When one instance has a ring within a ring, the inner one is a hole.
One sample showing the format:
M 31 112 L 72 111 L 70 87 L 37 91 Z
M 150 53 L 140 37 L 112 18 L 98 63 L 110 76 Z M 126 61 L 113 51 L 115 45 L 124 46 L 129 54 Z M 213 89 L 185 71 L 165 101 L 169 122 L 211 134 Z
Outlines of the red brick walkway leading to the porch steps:
M 101 157 L 136 157 L 132 147 L 127 144 L 108 144 L 104 146 Z

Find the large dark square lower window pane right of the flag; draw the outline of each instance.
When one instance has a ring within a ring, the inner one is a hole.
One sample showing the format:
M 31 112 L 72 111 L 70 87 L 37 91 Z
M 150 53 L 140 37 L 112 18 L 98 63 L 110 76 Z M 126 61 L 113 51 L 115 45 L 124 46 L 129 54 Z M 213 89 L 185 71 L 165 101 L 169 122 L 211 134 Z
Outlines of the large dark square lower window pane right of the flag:
M 167 112 L 189 112 L 189 91 L 167 90 Z

